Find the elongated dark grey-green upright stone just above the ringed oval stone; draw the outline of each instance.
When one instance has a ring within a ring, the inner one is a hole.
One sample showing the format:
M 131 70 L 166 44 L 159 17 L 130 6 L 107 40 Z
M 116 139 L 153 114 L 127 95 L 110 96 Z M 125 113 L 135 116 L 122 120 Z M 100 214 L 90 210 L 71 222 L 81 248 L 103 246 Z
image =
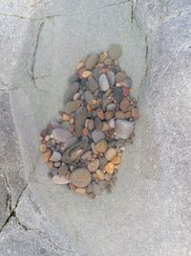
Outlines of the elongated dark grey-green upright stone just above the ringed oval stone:
M 75 112 L 75 122 L 74 122 L 74 128 L 77 137 L 79 137 L 82 133 L 82 130 L 84 128 L 84 124 L 87 117 L 87 108 L 85 106 L 80 106 L 77 111 Z

